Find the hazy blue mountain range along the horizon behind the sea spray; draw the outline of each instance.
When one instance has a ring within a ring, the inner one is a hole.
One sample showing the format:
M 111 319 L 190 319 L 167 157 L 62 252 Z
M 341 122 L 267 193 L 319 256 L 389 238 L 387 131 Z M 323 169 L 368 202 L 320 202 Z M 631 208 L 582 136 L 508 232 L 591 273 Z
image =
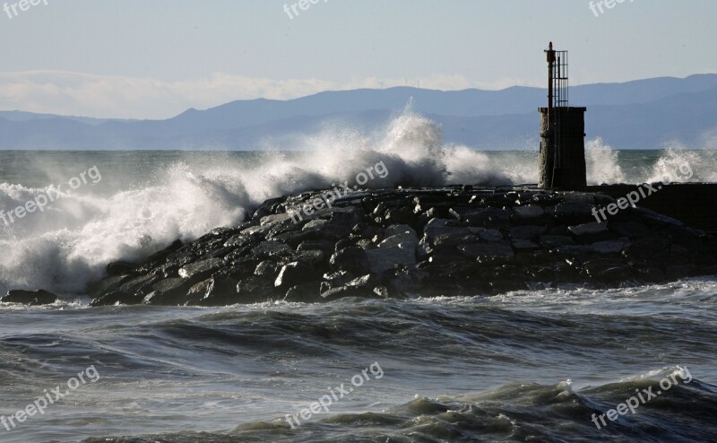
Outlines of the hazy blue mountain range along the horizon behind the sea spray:
M 0 111 L 0 149 L 226 149 L 270 143 L 295 149 L 295 135 L 332 123 L 370 130 L 411 103 L 443 127 L 445 143 L 478 149 L 526 149 L 538 143 L 538 108 L 547 91 L 327 91 L 296 100 L 237 100 L 188 109 L 167 120 L 117 120 Z M 570 89 L 572 106 L 585 106 L 588 138 L 618 149 L 660 148 L 678 141 L 703 147 L 717 135 L 717 74 L 598 83 Z

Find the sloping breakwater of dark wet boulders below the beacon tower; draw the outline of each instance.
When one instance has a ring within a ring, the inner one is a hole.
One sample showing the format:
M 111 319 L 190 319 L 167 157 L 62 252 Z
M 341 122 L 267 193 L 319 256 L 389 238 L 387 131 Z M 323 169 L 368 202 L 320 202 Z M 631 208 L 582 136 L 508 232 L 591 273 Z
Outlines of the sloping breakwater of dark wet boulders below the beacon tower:
M 717 274 L 717 239 L 702 231 L 644 208 L 596 222 L 593 210 L 615 203 L 608 195 L 399 188 L 330 207 L 322 195 L 272 199 L 239 227 L 110 264 L 88 290 L 92 305 L 488 295 Z

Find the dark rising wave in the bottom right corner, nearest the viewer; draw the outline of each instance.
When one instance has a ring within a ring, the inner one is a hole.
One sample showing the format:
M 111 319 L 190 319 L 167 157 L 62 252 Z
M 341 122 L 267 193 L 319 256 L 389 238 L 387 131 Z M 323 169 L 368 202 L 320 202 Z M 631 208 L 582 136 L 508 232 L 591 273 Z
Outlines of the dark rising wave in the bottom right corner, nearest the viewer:
M 667 373 L 668 370 L 661 370 Z M 476 441 L 709 441 L 717 435 L 717 387 L 699 380 L 673 387 L 640 414 L 598 430 L 592 413 L 625 400 L 635 389 L 658 387 L 640 378 L 573 392 L 554 386 L 506 385 L 485 395 L 414 400 L 382 413 L 337 414 L 292 430 L 285 421 L 257 421 L 217 433 L 185 432 L 147 437 L 87 439 L 86 443 L 229 443 L 238 441 L 367 441 L 376 443 Z

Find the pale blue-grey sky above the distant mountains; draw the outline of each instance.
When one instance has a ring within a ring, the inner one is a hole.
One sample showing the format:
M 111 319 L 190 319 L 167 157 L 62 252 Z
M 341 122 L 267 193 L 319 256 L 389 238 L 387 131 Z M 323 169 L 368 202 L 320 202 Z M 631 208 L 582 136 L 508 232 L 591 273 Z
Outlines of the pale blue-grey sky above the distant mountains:
M 0 0 L 0 110 L 168 118 L 328 90 L 542 87 L 550 40 L 571 84 L 717 73 L 714 0 L 31 1 Z

